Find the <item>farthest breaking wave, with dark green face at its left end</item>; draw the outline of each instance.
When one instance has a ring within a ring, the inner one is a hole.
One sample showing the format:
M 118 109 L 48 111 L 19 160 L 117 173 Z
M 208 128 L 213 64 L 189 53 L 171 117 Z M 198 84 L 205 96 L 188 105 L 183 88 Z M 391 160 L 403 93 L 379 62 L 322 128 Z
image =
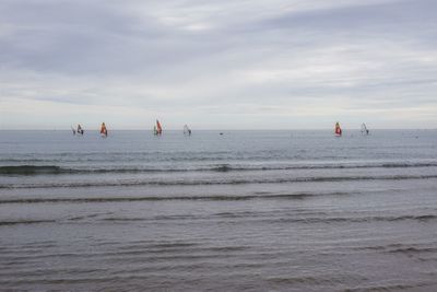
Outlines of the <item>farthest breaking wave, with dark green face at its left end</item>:
M 173 173 L 173 172 L 245 172 L 245 171 L 293 171 L 293 170 L 343 170 L 343 168 L 406 168 L 436 167 L 437 162 L 412 163 L 362 163 L 362 164 L 296 164 L 296 165 L 232 165 L 212 164 L 193 167 L 117 167 L 86 168 L 62 167 L 59 165 L 7 165 L 0 166 L 2 175 L 59 175 L 59 174 L 105 174 L 105 173 Z

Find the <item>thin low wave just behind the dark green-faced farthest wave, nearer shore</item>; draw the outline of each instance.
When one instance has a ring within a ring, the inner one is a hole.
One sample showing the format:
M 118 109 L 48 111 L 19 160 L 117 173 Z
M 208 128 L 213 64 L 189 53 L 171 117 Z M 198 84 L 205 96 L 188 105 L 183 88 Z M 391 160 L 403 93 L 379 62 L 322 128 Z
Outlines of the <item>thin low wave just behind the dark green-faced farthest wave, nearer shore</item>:
M 437 175 L 382 175 L 382 176 L 319 176 L 294 178 L 231 178 L 210 180 L 110 180 L 110 182 L 67 182 L 42 184 L 1 184 L 0 189 L 23 188 L 87 188 L 87 187 L 133 187 L 133 186 L 213 186 L 213 185 L 248 185 L 248 184 L 290 184 L 290 183 L 334 183 L 354 180 L 405 180 L 432 179 Z

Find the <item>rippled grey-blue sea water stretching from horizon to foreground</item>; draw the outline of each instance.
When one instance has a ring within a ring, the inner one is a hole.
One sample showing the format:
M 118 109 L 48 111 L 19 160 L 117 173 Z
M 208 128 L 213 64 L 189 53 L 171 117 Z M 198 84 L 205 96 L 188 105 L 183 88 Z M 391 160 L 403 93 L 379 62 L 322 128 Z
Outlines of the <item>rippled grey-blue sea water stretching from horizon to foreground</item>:
M 0 291 L 437 291 L 437 131 L 0 131 Z

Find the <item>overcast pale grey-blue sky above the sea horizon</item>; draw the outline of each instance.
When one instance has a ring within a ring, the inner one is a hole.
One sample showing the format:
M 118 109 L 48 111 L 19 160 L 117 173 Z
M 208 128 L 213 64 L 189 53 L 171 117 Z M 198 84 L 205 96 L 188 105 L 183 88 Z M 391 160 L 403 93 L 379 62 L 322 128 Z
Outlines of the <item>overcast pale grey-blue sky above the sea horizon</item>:
M 437 128 L 435 0 L 1 0 L 0 129 Z

